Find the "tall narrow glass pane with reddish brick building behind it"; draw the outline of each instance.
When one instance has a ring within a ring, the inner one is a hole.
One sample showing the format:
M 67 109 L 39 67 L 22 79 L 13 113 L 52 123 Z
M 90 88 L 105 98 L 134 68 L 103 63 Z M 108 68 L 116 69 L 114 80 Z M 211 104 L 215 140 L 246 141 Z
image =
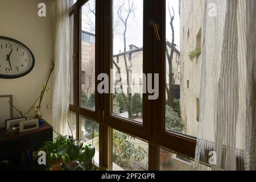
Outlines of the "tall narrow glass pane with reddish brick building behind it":
M 95 43 L 90 35 L 95 35 L 95 0 L 82 6 L 81 40 L 81 106 L 95 110 Z

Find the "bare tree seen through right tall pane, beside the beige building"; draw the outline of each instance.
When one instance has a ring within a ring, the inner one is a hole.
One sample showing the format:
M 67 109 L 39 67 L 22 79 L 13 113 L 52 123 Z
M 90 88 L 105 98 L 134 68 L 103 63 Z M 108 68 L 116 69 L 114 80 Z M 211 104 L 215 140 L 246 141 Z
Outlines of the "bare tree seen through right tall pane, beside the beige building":
M 174 18 L 175 18 L 175 13 L 174 13 L 174 7 L 172 7 L 173 15 L 171 14 L 169 2 L 168 2 L 168 10 L 171 18 L 170 26 L 172 30 L 172 42 L 167 42 L 166 43 L 166 56 L 168 60 L 168 68 L 169 68 L 169 73 L 168 73 L 168 85 L 166 81 L 166 92 L 167 92 L 167 104 L 170 107 L 174 107 L 174 73 L 172 72 L 172 59 L 174 58 Z M 168 47 L 171 48 L 171 51 L 169 52 Z

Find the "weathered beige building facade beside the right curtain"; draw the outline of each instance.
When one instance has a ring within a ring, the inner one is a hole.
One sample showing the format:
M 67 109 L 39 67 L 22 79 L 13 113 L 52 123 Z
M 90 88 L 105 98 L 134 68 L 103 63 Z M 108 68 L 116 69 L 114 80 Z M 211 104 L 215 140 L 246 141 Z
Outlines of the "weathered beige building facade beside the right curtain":
M 189 54 L 203 44 L 204 1 L 180 0 L 180 112 L 185 134 L 197 136 L 201 84 L 201 54 Z

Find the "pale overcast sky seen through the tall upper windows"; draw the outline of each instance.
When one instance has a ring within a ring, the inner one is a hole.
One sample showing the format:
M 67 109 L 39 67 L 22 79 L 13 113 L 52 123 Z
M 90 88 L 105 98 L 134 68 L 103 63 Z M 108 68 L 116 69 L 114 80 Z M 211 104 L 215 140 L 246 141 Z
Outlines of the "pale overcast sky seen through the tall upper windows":
M 90 7 L 92 9 L 95 0 L 90 0 Z M 132 1 L 132 0 L 130 0 Z M 118 18 L 118 8 L 120 7 L 123 1 L 113 0 L 113 54 L 123 52 L 123 31 L 124 24 Z M 125 0 L 125 6 L 122 12 L 122 17 L 127 16 L 128 1 Z M 134 13 L 129 16 L 127 22 L 127 49 L 129 49 L 130 44 L 134 44 L 137 47 L 143 47 L 143 0 L 134 0 Z M 177 44 L 178 49 L 180 45 L 180 17 L 179 17 L 179 0 L 166 0 L 166 39 L 171 42 L 172 32 L 170 26 L 170 15 L 168 11 L 168 2 L 172 13 L 172 7 L 175 11 L 174 19 L 174 30 L 175 30 L 175 44 Z M 92 13 L 89 13 L 88 6 L 84 5 L 82 9 L 82 29 L 90 32 L 94 32 L 89 24 L 95 23 L 95 16 Z M 86 22 L 89 22 L 86 23 Z

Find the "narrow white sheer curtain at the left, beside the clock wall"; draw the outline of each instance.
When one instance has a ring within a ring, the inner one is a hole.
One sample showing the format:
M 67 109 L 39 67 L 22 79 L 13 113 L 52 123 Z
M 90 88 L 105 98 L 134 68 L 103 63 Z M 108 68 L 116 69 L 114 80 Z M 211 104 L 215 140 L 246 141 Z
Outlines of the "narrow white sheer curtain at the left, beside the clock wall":
M 52 123 L 57 133 L 69 134 L 69 3 L 56 0 L 55 71 L 53 73 Z

